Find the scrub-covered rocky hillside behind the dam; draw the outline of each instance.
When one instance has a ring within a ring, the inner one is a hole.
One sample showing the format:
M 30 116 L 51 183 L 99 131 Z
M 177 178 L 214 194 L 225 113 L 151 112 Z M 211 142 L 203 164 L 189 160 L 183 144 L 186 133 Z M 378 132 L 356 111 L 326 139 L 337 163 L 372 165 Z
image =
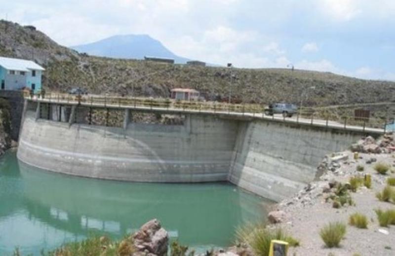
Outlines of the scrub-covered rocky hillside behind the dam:
M 169 95 L 174 87 L 201 91 L 207 99 L 233 101 L 288 101 L 304 105 L 391 101 L 395 83 L 368 81 L 332 73 L 288 69 L 241 69 L 158 64 L 100 58 L 62 47 L 32 27 L 0 21 L 0 55 L 33 59 L 46 67 L 43 82 L 49 90 L 80 86 L 91 93 L 134 96 Z

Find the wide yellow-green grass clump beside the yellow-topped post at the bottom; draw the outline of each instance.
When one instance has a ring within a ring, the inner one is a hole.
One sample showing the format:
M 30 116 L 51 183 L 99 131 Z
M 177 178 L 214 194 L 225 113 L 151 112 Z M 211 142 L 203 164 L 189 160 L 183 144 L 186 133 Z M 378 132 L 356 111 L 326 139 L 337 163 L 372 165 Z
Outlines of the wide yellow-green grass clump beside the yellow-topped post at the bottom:
M 248 244 L 255 255 L 269 255 L 272 240 L 282 240 L 289 246 L 299 246 L 299 241 L 287 234 L 283 229 L 270 229 L 265 225 L 248 224 L 239 228 L 236 232 L 238 243 Z

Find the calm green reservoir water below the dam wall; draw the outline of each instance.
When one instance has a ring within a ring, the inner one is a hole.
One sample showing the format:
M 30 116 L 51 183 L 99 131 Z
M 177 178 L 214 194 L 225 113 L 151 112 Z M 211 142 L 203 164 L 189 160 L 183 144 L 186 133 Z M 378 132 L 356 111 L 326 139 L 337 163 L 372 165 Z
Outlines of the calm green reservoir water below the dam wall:
M 197 250 L 229 245 L 269 204 L 227 183 L 142 184 L 71 177 L 0 158 L 0 255 L 39 254 L 91 233 L 120 238 L 157 218 Z

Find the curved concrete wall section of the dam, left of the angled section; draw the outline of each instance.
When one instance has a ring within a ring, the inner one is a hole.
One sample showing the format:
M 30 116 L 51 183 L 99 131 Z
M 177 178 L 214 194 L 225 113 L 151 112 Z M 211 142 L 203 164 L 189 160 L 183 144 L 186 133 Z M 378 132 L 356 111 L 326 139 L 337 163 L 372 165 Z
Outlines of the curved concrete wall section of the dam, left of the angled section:
M 225 181 L 238 123 L 187 117 L 184 126 L 129 123 L 126 129 L 25 114 L 18 159 L 66 174 L 141 182 Z

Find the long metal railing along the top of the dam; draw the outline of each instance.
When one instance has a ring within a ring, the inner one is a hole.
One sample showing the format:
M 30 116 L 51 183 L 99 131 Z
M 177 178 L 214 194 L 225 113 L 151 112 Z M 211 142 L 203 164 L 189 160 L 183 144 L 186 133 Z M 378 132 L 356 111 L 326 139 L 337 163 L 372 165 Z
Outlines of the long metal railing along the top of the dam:
M 264 113 L 265 105 L 247 103 L 229 104 L 216 101 L 183 101 L 169 98 L 70 95 L 62 93 L 46 93 L 39 96 L 25 95 L 25 99 L 43 103 L 81 105 L 85 107 L 121 108 L 179 114 L 214 114 L 225 115 L 230 118 L 256 118 L 374 134 L 382 134 L 387 131 L 386 118 L 356 118 L 355 116 L 336 115 L 328 111 L 327 107 L 303 108 L 299 109 L 292 117 L 286 117 L 281 114 L 266 115 Z

